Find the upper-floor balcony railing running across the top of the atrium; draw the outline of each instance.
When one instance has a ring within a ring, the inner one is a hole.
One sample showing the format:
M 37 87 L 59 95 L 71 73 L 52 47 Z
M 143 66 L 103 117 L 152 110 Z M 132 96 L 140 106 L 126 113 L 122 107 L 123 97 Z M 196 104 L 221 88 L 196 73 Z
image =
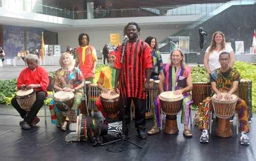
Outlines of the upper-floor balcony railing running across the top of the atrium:
M 96 13 L 94 9 L 76 10 L 58 8 L 32 0 L 6 0 L 2 1 L 3 8 L 14 10 L 41 13 L 46 15 L 58 16 L 70 19 L 93 19 L 93 18 L 109 18 L 110 12 L 112 17 L 145 17 L 145 16 L 174 16 L 174 15 L 202 15 L 215 10 L 223 5 L 223 3 L 214 4 L 193 4 L 193 5 L 178 5 L 178 6 L 156 6 L 156 7 L 138 7 L 138 8 L 122 8 L 113 10 L 100 10 L 100 13 L 105 12 L 105 17 Z

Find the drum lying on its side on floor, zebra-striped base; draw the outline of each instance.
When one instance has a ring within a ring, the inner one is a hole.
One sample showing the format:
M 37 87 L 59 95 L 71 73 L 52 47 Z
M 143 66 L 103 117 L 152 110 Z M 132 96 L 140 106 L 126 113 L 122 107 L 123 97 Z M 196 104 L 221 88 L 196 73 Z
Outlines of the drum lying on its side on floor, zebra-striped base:
M 91 119 L 89 116 L 79 114 L 76 119 L 76 123 L 71 123 L 69 129 L 71 132 L 66 136 L 66 142 L 93 140 L 93 137 L 99 135 L 111 135 L 117 138 L 121 138 L 122 135 L 122 122 L 115 122 L 111 124 L 102 124 L 96 119 Z M 94 132 L 93 132 L 94 131 Z

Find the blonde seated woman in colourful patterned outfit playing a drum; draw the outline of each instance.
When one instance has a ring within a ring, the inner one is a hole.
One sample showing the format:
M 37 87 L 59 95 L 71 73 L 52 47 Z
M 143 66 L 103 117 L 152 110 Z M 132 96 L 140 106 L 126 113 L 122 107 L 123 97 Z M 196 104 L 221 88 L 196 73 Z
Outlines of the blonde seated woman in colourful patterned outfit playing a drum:
M 62 53 L 59 59 L 61 68 L 57 70 L 53 76 L 52 84 L 57 91 L 72 91 L 74 93 L 74 102 L 71 108 L 66 112 L 61 112 L 54 104 L 54 100 L 50 102 L 50 112 L 52 115 L 52 124 L 57 124 L 62 130 L 67 130 L 69 121 L 74 122 L 77 118 L 77 108 L 81 104 L 83 96 L 83 75 L 79 68 L 72 66 L 72 59 L 68 53 Z M 62 115 L 66 117 L 66 121 L 62 122 Z

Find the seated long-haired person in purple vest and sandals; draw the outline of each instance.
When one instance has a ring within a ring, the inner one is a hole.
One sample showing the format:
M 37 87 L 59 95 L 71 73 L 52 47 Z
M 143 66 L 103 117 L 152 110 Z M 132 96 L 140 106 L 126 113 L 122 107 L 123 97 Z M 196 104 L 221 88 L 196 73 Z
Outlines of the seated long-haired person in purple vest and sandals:
M 183 95 L 181 123 L 184 124 L 183 134 L 187 137 L 192 136 L 187 125 L 189 120 L 190 104 L 193 103 L 189 91 L 192 90 L 191 66 L 185 64 L 184 54 L 180 49 L 174 49 L 170 53 L 170 64 L 163 65 L 163 74 L 160 78 L 160 93 L 164 91 L 174 91 L 174 95 Z M 159 132 L 157 126 L 160 122 L 160 100 L 159 96 L 155 100 L 156 117 L 154 117 L 154 127 L 148 134 Z

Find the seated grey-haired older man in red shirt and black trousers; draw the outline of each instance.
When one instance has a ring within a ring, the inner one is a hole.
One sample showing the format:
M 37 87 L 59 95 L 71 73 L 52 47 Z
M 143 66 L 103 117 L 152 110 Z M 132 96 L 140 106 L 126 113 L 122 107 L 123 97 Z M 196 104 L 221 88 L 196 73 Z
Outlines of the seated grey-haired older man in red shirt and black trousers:
M 37 124 L 40 121 L 38 118 L 36 119 L 36 122 L 33 122 L 37 112 L 44 104 L 44 100 L 47 96 L 46 88 L 49 84 L 49 78 L 46 70 L 39 66 L 40 61 L 36 55 L 28 55 L 25 58 L 25 63 L 26 66 L 28 64 L 28 67 L 19 74 L 17 88 L 18 90 L 25 91 L 29 89 L 36 89 L 36 100 L 28 114 L 19 106 L 15 97 L 12 99 L 12 106 L 19 112 L 20 117 L 24 119 L 23 121 L 19 122 L 19 125 L 24 129 L 30 129 L 29 124 Z

